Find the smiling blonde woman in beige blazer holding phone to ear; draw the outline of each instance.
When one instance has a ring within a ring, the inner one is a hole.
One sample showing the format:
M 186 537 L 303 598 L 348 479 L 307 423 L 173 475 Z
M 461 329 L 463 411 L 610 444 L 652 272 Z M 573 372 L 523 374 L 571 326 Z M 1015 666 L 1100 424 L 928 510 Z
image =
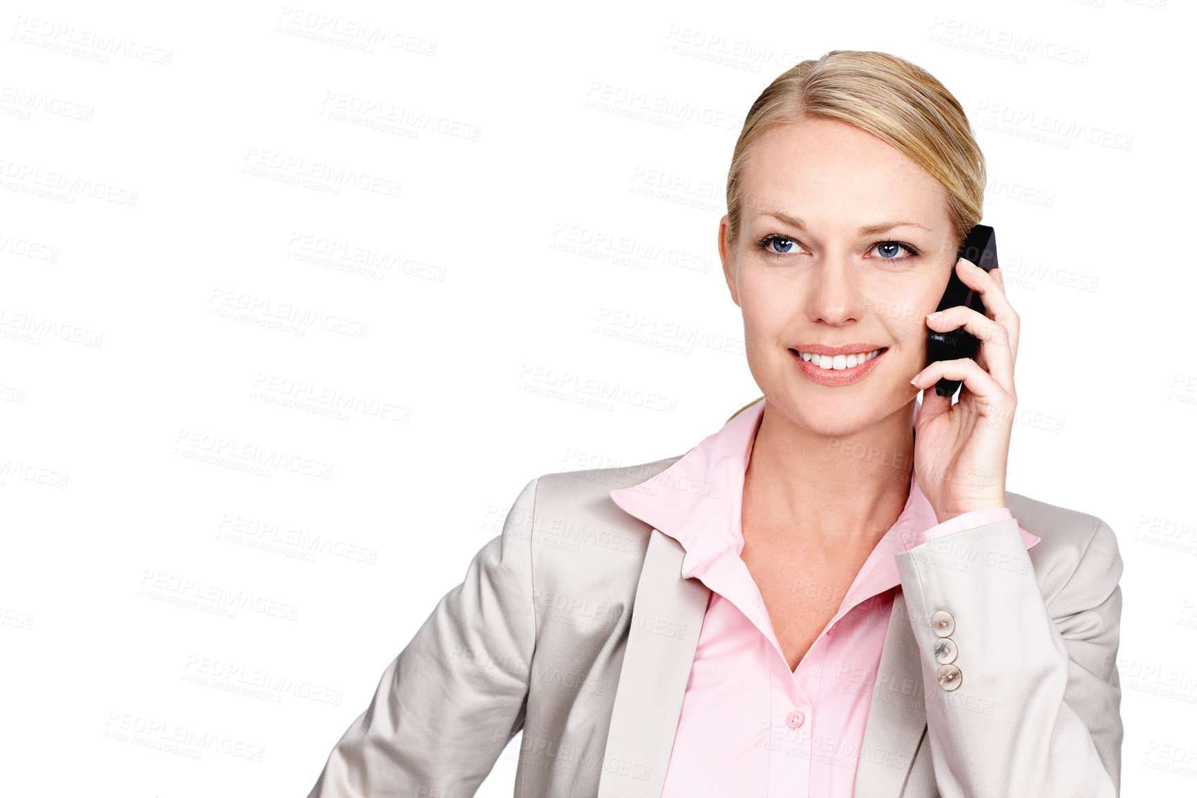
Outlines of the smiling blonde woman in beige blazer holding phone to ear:
M 1019 316 L 955 256 L 984 185 L 923 69 L 778 77 L 718 237 L 765 395 L 685 455 L 531 480 L 311 794 L 470 796 L 523 730 L 519 796 L 1117 796 L 1122 561 L 1005 492 Z M 931 314 L 953 268 L 985 314 Z M 926 365 L 961 326 L 977 356 Z

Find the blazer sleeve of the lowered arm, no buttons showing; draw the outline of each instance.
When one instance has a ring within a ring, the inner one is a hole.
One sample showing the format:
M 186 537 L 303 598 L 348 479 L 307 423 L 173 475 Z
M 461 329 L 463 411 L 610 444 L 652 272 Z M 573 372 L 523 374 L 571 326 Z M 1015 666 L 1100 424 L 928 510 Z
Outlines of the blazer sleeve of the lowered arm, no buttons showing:
M 536 483 L 383 671 L 309 798 L 473 796 L 523 727 L 536 628 Z

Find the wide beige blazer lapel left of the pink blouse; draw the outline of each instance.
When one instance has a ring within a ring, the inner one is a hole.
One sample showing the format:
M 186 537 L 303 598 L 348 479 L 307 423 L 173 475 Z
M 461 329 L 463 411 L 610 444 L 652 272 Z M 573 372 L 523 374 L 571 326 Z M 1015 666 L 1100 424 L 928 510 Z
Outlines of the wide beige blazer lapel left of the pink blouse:
M 598 798 L 660 798 L 711 591 L 683 579 L 686 550 L 652 530 L 636 587 Z

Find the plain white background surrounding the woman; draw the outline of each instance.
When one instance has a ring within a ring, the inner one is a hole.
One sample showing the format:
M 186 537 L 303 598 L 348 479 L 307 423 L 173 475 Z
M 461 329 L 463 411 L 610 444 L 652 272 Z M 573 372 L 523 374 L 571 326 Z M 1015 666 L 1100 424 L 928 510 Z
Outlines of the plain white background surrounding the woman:
M 1190 7 L 102 5 L 0 18 L 6 793 L 306 794 L 529 479 L 760 395 L 723 186 L 830 49 L 977 128 L 1008 488 L 1118 533 L 1123 791 L 1197 788 Z

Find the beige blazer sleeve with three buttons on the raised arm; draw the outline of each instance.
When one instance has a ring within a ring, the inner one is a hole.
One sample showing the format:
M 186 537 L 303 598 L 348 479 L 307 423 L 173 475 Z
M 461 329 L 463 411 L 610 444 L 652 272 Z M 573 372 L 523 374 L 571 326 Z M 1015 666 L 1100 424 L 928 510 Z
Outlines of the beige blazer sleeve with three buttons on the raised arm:
M 1043 588 L 1014 519 L 894 555 L 942 798 L 1118 796 L 1123 563 L 1093 520 L 1075 568 L 1053 561 Z

